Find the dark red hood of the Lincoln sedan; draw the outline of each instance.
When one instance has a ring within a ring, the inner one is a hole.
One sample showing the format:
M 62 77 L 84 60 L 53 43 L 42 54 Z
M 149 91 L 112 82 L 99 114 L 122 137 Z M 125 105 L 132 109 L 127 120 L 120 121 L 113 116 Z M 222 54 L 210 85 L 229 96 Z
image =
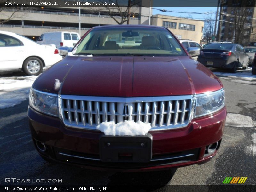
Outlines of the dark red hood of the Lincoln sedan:
M 54 89 L 56 79 L 61 82 L 59 90 Z M 221 87 L 209 69 L 188 56 L 67 56 L 33 84 L 44 92 L 108 97 L 190 95 Z

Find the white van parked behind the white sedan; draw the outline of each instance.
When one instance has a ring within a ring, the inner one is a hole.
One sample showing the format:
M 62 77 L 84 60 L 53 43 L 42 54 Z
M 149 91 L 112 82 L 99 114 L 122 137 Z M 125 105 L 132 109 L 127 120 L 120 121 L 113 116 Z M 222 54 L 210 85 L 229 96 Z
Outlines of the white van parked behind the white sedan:
M 60 31 L 43 33 L 36 43 L 38 44 L 55 44 L 59 49 L 60 47 L 73 47 L 80 36 L 76 32 Z

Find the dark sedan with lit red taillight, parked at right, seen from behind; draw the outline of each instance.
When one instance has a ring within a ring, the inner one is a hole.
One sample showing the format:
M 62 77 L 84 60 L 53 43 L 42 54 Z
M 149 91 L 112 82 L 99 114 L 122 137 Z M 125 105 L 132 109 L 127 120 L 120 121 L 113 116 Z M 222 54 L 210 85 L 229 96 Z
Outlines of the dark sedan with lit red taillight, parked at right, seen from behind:
M 249 56 L 239 44 L 212 43 L 201 50 L 197 60 L 206 67 L 227 68 L 236 73 L 238 67 L 247 69 Z

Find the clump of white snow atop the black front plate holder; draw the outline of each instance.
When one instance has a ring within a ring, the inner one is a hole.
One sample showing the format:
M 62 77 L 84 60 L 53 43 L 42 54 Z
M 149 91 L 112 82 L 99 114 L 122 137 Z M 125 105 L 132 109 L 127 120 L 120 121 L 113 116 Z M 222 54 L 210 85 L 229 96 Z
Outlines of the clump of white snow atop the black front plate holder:
M 132 120 L 125 120 L 115 124 L 114 121 L 103 122 L 97 126 L 97 129 L 104 132 L 105 135 L 146 135 L 151 128 L 150 123 L 143 123 L 141 121 L 134 122 Z

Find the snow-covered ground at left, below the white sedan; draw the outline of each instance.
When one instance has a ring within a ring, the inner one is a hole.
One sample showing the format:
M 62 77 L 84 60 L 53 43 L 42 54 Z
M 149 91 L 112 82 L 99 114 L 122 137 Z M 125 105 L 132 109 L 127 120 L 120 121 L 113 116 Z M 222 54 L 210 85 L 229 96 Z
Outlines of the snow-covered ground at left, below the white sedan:
M 30 87 L 38 76 L 0 78 L 0 109 L 13 107 L 29 98 Z

